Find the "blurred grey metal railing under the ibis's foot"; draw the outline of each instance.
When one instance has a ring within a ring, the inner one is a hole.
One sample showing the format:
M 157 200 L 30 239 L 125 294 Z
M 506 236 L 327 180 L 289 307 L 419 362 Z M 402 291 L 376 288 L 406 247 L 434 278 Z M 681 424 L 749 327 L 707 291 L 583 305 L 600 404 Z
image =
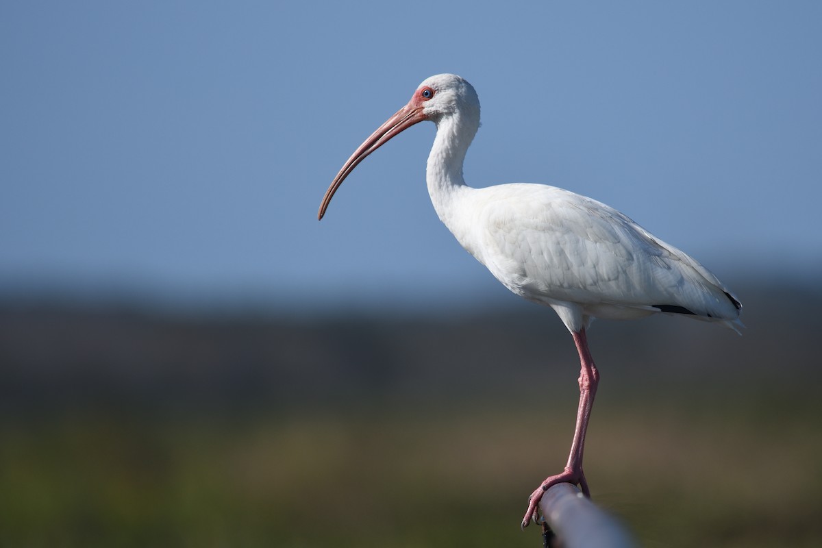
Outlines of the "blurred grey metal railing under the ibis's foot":
M 545 545 L 551 548 L 634 548 L 639 546 L 617 518 L 600 509 L 570 483 L 558 483 L 545 492 L 539 511 Z

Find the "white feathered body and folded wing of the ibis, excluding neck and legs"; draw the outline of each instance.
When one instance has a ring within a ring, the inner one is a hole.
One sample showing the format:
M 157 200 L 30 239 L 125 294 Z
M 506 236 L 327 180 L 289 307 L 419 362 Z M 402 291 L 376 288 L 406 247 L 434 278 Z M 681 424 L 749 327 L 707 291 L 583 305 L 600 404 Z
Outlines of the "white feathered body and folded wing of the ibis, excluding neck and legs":
M 741 305 L 716 276 L 601 202 L 531 184 L 471 189 L 464 200 L 455 235 L 522 297 L 569 304 L 586 321 L 664 312 L 741 325 Z

